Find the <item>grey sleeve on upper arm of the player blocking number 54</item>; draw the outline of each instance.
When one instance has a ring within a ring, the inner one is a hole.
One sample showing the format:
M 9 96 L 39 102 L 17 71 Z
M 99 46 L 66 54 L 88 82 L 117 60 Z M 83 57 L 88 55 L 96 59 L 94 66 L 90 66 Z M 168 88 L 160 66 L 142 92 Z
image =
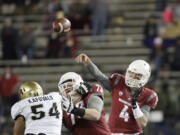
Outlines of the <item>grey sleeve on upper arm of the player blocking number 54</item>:
M 103 99 L 97 94 L 91 95 L 87 102 L 87 108 L 94 108 L 99 113 L 102 112 L 103 105 L 104 105 Z

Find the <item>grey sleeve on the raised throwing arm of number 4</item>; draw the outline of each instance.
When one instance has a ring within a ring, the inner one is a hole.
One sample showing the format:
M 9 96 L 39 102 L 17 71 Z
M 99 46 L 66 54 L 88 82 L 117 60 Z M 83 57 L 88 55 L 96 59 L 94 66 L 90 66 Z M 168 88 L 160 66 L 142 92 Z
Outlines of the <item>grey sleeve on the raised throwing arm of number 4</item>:
M 107 89 L 108 91 L 112 92 L 113 90 L 113 87 L 112 87 L 112 84 L 111 84 L 111 81 L 109 80 L 109 78 L 103 74 L 99 69 L 98 67 L 93 63 L 91 62 L 88 66 L 88 71 L 93 75 L 93 77 L 99 81 L 103 87 L 105 89 Z

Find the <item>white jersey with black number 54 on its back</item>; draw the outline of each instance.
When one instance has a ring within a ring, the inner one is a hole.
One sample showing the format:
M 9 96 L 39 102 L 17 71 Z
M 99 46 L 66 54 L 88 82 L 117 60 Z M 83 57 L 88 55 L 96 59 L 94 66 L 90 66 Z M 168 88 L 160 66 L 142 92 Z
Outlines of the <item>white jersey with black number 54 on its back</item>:
M 24 117 L 25 133 L 60 135 L 62 126 L 62 97 L 57 92 L 44 96 L 23 99 L 11 108 L 11 116 L 16 120 Z

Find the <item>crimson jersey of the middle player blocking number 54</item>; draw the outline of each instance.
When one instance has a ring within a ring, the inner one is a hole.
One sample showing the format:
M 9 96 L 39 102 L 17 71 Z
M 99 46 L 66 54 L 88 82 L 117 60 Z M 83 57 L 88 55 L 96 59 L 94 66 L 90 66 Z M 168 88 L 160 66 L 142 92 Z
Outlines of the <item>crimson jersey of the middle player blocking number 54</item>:
M 100 95 L 104 99 L 104 91 L 98 84 L 93 84 L 92 91 L 76 104 L 76 107 L 87 108 L 88 99 L 92 94 Z M 70 130 L 72 135 L 111 135 L 111 132 L 105 121 L 104 108 L 98 121 L 86 120 L 75 116 L 74 114 L 63 114 L 64 124 Z

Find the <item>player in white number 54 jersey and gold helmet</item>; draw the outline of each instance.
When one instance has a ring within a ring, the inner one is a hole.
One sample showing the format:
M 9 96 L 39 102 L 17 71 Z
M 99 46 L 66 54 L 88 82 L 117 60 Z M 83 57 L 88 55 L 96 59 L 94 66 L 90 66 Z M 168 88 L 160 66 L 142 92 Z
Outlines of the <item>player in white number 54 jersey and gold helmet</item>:
M 43 95 L 34 81 L 20 87 L 22 100 L 11 108 L 15 120 L 13 135 L 61 135 L 62 109 L 58 92 Z

